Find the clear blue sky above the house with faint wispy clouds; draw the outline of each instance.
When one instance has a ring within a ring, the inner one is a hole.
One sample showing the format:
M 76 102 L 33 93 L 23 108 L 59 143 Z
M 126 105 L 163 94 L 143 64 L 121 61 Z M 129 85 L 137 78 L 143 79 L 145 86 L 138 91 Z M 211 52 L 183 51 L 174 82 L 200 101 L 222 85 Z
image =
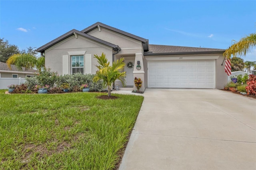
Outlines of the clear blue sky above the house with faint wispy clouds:
M 256 32 L 253 0 L 0 0 L 0 38 L 20 49 L 102 22 L 150 44 L 227 49 Z M 256 49 L 243 57 L 256 61 Z

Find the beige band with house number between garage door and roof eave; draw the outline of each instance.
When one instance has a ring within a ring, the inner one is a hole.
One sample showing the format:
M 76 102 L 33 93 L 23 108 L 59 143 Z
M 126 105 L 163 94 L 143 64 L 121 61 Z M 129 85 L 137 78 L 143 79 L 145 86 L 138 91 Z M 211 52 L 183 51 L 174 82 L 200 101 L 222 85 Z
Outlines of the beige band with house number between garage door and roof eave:
M 147 61 L 163 61 L 163 60 L 193 60 L 193 59 L 218 59 L 220 55 L 204 55 L 204 56 L 175 56 L 175 57 L 148 57 L 145 56 Z

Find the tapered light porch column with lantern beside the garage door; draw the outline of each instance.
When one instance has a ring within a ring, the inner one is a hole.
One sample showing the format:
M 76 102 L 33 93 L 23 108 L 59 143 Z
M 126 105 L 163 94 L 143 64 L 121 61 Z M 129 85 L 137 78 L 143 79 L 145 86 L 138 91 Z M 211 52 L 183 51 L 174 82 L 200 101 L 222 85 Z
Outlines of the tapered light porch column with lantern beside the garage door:
M 144 66 L 143 66 L 143 54 L 142 53 L 135 53 L 135 61 L 134 61 L 134 69 L 133 69 L 133 78 L 137 77 L 142 80 L 142 87 L 140 91 L 145 91 L 145 82 L 144 82 Z M 140 61 L 140 69 L 138 69 L 138 61 Z M 136 89 L 135 84 L 133 85 L 134 89 Z

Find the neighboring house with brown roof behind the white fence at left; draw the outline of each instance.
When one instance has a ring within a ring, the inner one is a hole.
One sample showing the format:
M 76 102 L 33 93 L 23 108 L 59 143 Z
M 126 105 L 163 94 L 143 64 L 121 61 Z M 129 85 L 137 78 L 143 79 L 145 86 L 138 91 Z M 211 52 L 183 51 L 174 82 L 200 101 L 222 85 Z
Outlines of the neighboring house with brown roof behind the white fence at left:
M 22 67 L 22 71 L 19 71 L 15 65 L 11 65 L 11 69 L 4 62 L 0 62 L 0 77 L 2 78 L 25 78 L 34 76 L 34 73 L 38 72 L 38 70 L 27 69 Z

